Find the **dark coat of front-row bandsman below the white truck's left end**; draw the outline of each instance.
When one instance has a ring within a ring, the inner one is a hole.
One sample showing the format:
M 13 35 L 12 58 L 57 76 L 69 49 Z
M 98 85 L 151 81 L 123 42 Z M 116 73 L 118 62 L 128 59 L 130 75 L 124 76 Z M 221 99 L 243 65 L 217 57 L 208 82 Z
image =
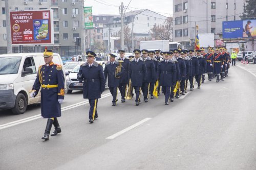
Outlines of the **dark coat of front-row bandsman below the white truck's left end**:
M 136 62 L 133 58 L 129 64 L 128 78 L 132 80 L 132 86 L 142 86 L 142 82 L 147 80 L 147 70 L 142 58 Z

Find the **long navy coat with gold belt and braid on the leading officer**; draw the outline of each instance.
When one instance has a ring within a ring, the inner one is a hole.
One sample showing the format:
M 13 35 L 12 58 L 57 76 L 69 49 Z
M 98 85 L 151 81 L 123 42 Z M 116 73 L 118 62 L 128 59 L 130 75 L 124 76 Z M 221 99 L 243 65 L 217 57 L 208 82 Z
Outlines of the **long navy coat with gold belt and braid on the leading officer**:
M 64 99 L 65 77 L 62 66 L 53 62 L 49 66 L 39 67 L 32 90 L 36 95 L 41 88 L 41 115 L 44 118 L 60 117 L 61 110 L 58 99 Z M 47 87 L 57 85 L 57 87 Z

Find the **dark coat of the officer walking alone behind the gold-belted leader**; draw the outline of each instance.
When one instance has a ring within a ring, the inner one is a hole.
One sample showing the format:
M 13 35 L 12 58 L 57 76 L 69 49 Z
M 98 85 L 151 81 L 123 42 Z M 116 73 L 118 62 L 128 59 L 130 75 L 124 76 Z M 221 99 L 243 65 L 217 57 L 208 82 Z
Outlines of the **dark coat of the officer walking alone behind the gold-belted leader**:
M 83 99 L 99 99 L 105 90 L 105 78 L 103 67 L 96 61 L 89 67 L 89 63 L 83 63 L 77 74 L 77 79 L 83 81 Z

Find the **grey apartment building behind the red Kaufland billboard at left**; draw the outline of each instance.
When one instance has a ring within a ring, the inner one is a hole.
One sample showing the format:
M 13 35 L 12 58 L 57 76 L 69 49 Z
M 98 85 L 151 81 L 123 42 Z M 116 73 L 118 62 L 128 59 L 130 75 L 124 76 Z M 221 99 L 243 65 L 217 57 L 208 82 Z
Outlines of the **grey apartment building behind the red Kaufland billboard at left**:
M 7 53 L 6 41 L 6 15 L 5 1 L 0 2 L 0 54 Z M 61 57 L 75 55 L 75 38 L 81 37 L 84 23 L 82 23 L 83 11 L 82 1 L 79 0 L 12 0 L 9 1 L 10 11 L 24 10 L 53 10 L 54 22 L 54 45 L 48 48 L 59 53 Z M 38 48 L 38 47 L 37 47 Z M 38 51 L 44 50 L 45 46 L 40 46 Z M 13 45 L 13 53 L 35 52 L 35 45 Z M 78 48 L 81 53 L 81 47 Z

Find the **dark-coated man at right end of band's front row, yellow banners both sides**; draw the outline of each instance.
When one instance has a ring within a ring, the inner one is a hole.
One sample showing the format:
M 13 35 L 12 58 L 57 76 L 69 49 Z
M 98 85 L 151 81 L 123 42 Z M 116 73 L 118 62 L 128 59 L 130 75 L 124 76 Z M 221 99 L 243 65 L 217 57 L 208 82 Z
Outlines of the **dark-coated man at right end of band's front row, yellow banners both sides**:
M 172 59 L 169 59 L 170 52 L 164 52 L 164 60 L 162 60 L 157 67 L 157 77 L 159 78 L 159 85 L 163 88 L 165 96 L 165 105 L 169 104 L 170 88 L 176 83 L 176 66 Z

